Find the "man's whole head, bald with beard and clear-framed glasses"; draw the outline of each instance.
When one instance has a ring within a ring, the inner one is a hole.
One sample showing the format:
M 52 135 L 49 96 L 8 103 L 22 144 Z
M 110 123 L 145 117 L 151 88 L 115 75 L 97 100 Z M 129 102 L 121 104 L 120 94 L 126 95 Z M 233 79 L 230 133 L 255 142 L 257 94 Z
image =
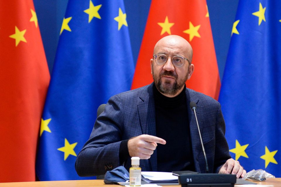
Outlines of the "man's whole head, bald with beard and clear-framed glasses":
M 150 67 L 156 88 L 167 97 L 177 96 L 184 89 L 186 80 L 190 79 L 194 65 L 186 60 L 182 62 L 182 58 L 174 57 L 185 57 L 191 63 L 193 54 L 191 45 L 180 36 L 169 35 L 155 44 L 153 53 L 156 56 L 150 59 Z

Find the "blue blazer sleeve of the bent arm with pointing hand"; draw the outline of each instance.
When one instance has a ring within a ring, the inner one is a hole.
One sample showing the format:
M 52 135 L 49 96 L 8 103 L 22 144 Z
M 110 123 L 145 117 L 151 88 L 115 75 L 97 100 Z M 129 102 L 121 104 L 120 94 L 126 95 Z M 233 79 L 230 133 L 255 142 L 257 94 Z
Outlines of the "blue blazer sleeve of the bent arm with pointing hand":
M 89 140 L 76 158 L 75 169 L 79 176 L 102 175 L 120 165 L 119 147 L 124 124 L 122 108 L 118 96 L 109 99 Z

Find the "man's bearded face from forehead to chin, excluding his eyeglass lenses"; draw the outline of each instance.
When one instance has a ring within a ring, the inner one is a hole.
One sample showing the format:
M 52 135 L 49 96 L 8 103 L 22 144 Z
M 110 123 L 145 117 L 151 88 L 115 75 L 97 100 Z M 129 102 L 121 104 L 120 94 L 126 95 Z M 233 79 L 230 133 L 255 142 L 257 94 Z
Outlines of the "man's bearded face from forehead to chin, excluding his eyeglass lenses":
M 155 58 L 150 60 L 151 74 L 155 86 L 165 95 L 176 96 L 183 89 L 186 80 L 191 77 L 193 65 L 189 65 L 189 62 L 185 60 L 183 66 L 175 67 L 172 64 L 172 57 L 182 56 L 191 60 L 192 53 L 179 40 L 169 39 L 157 44 L 154 54 L 165 54 L 168 60 L 165 65 L 158 65 Z

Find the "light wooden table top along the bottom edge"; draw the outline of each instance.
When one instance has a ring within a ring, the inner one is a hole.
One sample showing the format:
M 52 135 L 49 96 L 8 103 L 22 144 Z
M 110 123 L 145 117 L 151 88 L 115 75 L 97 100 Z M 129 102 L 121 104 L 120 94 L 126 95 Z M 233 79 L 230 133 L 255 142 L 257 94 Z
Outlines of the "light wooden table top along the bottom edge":
M 256 182 L 261 185 L 273 185 L 281 187 L 281 178 L 268 179 L 263 182 Z M 121 187 L 120 185 L 104 184 L 103 180 L 79 180 L 79 181 L 37 181 L 37 182 L 11 182 L 0 183 L 0 187 Z M 180 187 L 171 185 L 164 187 Z

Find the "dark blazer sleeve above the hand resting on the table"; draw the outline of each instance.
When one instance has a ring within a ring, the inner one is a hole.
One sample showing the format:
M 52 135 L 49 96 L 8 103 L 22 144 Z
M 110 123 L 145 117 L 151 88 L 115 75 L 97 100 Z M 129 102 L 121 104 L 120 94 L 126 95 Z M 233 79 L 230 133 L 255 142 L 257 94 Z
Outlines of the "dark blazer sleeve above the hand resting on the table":
M 218 104 L 217 117 L 216 117 L 216 142 L 215 142 L 215 160 L 214 170 L 216 173 L 220 171 L 225 162 L 231 158 L 229 154 L 229 147 L 225 138 L 225 120 L 222 115 L 221 105 Z

